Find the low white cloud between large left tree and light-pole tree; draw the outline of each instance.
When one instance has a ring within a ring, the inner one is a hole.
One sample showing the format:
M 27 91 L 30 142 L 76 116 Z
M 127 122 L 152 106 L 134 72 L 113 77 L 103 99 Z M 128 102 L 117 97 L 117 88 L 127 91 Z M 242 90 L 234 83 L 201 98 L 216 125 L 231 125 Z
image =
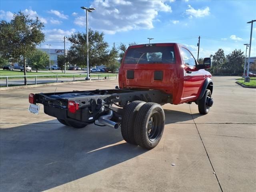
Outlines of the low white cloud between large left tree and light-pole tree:
M 62 29 L 51 29 L 51 30 L 43 30 L 45 34 L 46 41 L 58 41 L 63 39 L 64 36 L 69 36 L 72 33 L 76 32 L 76 29 L 71 30 L 62 30 Z

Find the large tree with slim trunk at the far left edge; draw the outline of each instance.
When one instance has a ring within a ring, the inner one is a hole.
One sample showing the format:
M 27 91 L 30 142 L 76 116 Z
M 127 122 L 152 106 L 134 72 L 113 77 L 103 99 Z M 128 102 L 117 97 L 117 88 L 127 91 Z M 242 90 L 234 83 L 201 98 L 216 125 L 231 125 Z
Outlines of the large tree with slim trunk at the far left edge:
M 44 24 L 36 17 L 32 20 L 22 12 L 14 14 L 10 22 L 0 23 L 0 54 L 15 61 L 23 58 L 26 75 L 26 58 L 36 51 L 36 46 L 44 41 Z M 24 84 L 27 84 L 24 77 Z

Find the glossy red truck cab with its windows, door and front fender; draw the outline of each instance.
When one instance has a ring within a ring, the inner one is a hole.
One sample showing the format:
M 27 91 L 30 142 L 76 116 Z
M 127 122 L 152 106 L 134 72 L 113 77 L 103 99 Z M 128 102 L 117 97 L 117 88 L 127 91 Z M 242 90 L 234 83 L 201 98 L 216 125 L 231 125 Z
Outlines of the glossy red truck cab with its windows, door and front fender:
M 192 102 L 200 96 L 205 80 L 212 78 L 204 68 L 210 68 L 210 62 L 198 64 L 190 50 L 181 44 L 134 45 L 122 59 L 119 86 L 162 90 L 172 95 L 172 104 Z M 212 87 L 209 88 L 212 92 Z

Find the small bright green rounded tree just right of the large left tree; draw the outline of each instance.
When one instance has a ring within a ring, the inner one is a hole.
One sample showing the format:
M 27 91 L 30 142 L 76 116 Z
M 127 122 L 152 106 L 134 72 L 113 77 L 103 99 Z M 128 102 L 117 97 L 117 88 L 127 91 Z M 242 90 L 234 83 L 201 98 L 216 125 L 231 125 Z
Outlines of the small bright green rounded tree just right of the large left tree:
M 28 58 L 28 65 L 36 68 L 36 72 L 42 68 L 45 68 L 48 64 L 49 55 L 46 52 L 38 49 L 32 54 L 32 56 Z

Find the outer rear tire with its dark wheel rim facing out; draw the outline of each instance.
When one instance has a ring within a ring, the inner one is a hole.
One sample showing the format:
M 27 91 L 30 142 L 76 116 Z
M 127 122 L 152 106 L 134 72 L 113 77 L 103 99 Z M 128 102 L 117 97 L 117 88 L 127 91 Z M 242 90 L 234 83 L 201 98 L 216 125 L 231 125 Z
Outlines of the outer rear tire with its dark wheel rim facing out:
M 135 118 L 134 137 L 136 143 L 152 149 L 160 142 L 164 132 L 164 110 L 160 104 L 144 104 Z

